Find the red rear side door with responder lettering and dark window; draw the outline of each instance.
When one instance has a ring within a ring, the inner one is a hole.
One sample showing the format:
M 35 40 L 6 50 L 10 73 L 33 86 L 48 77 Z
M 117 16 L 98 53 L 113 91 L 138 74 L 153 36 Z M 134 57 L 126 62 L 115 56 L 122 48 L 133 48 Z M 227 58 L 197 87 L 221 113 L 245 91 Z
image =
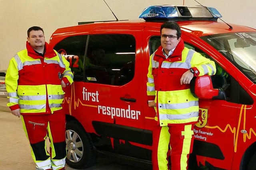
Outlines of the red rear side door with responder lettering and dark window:
M 109 31 L 111 30 L 111 31 Z M 96 148 L 144 158 L 144 111 L 141 97 L 142 28 L 100 27 L 88 38 L 84 100 L 88 118 L 100 137 Z M 82 90 L 82 89 L 81 89 Z M 97 100 L 88 93 L 95 93 Z

